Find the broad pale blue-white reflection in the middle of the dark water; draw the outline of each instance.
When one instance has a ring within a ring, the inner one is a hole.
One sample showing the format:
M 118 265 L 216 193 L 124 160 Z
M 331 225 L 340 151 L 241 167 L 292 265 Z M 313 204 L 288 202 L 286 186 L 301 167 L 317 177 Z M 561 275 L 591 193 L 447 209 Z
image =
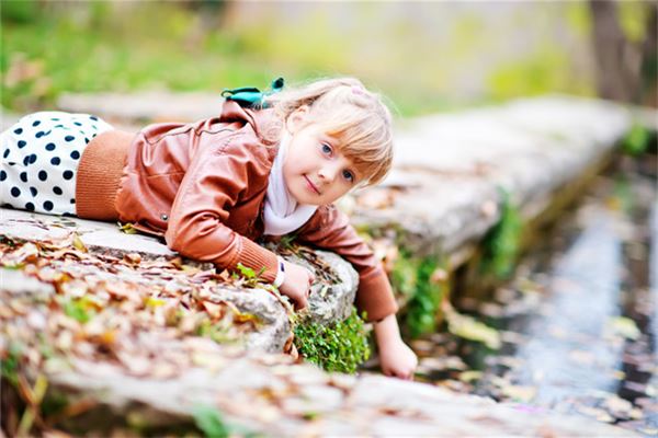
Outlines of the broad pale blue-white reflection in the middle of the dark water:
M 524 365 L 514 380 L 536 385 L 541 405 L 611 391 L 608 372 L 621 366 L 621 346 L 602 342 L 620 314 L 621 242 L 609 211 L 591 211 L 591 220 L 556 264 L 545 295 L 551 311 L 532 321 L 518 353 Z

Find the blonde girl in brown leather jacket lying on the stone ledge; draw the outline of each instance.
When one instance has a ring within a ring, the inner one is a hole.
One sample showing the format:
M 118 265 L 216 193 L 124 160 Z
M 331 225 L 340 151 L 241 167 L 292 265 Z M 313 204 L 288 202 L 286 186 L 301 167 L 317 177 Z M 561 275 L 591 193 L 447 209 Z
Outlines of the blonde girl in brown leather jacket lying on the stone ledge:
M 137 135 L 86 114 L 36 113 L 1 135 L 0 201 L 128 222 L 190 258 L 263 269 L 302 309 L 313 275 L 254 243 L 294 232 L 359 272 L 355 304 L 375 322 L 382 369 L 410 379 L 417 358 L 401 341 L 388 279 L 332 205 L 386 175 L 390 125 L 381 99 L 351 78 L 269 95 L 242 90 L 217 117 Z

